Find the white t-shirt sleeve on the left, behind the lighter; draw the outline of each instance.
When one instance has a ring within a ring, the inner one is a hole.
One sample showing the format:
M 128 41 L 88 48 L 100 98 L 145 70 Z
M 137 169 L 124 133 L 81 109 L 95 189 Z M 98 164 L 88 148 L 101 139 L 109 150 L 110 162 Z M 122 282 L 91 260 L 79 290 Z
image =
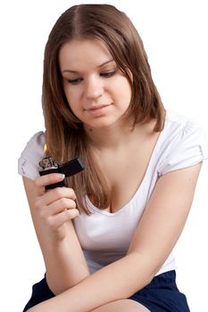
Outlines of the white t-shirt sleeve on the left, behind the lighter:
M 40 131 L 33 135 L 18 159 L 18 173 L 35 180 L 39 177 L 39 161 L 44 157 L 45 135 Z

